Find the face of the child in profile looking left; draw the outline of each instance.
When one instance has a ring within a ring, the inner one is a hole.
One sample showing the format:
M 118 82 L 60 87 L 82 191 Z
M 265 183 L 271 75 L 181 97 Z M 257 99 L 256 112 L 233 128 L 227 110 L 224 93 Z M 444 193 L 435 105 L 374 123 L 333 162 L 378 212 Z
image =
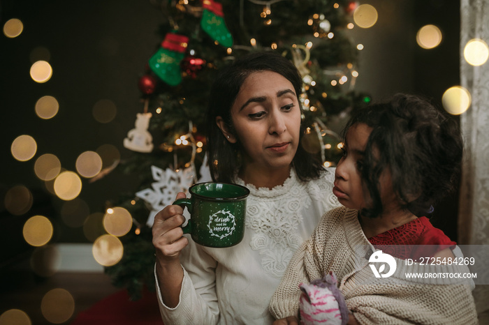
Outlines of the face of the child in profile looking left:
M 361 210 L 371 205 L 369 192 L 361 176 L 365 146 L 371 132 L 372 128 L 364 123 L 353 124 L 346 133 L 343 157 L 336 167 L 333 194 L 341 204 L 350 209 Z M 398 202 L 388 170 L 384 169 L 379 177 L 379 186 L 384 212 L 394 209 Z

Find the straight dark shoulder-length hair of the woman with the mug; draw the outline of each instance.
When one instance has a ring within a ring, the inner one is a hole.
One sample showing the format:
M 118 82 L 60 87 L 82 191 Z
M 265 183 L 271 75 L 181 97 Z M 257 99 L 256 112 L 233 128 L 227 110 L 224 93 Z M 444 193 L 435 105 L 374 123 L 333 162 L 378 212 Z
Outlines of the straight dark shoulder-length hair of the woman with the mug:
M 206 118 L 207 155 L 210 174 L 214 181 L 232 183 L 241 165 L 239 139 L 235 144 L 228 142 L 217 127 L 216 117 L 221 116 L 228 130 L 234 133 L 231 107 L 233 107 L 233 103 L 246 78 L 251 73 L 261 71 L 272 71 L 289 80 L 293 85 L 300 105 L 299 96 L 302 92 L 302 77 L 300 77 L 293 63 L 282 55 L 274 52 L 247 54 L 222 69 L 212 84 Z M 302 110 L 302 107 L 300 109 Z M 302 130 L 301 125 L 300 139 L 302 139 L 303 134 L 304 130 Z M 322 169 L 321 162 L 310 153 L 307 153 L 300 144 L 292 163 L 298 178 L 302 181 L 317 179 Z

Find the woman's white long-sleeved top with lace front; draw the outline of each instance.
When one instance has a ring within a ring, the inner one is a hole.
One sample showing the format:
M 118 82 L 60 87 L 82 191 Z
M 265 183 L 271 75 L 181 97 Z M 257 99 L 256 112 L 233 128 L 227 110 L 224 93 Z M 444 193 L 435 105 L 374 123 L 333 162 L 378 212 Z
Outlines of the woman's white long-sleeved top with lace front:
M 180 303 L 168 308 L 159 294 L 164 324 L 272 324 L 268 304 L 293 253 L 321 216 L 340 206 L 330 194 L 334 174 L 329 169 L 320 179 L 302 182 L 292 169 L 284 185 L 272 190 L 246 185 L 251 193 L 245 238 L 231 248 L 207 248 L 189 239 L 180 258 Z

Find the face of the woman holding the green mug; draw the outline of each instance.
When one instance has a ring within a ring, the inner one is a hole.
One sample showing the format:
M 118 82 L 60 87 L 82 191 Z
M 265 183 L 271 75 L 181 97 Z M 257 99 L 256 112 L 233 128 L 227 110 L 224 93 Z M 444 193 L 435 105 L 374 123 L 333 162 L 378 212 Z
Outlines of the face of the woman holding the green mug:
M 300 106 L 293 85 L 271 71 L 251 73 L 242 84 L 231 118 L 246 167 L 289 168 L 300 136 Z

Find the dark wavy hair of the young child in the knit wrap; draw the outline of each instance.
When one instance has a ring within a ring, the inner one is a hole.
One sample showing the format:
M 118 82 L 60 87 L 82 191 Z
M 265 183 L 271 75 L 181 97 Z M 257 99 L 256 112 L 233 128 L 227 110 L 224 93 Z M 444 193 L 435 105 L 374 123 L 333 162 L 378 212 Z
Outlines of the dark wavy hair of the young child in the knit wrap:
M 354 112 L 343 135 L 356 123 L 372 128 L 361 172 L 373 204 L 363 215 L 375 217 L 383 210 L 379 176 L 386 168 L 402 208 L 416 216 L 432 212 L 454 190 L 463 142 L 458 123 L 448 114 L 420 97 L 397 94 Z

